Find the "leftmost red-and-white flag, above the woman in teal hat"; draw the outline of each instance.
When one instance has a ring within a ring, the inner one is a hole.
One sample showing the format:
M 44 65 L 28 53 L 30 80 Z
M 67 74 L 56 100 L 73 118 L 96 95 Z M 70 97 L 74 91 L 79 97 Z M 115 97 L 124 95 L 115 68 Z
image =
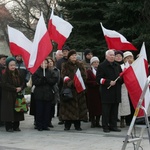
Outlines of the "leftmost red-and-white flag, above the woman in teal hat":
M 8 26 L 10 52 L 12 55 L 21 55 L 26 68 L 28 67 L 32 42 L 17 29 Z

